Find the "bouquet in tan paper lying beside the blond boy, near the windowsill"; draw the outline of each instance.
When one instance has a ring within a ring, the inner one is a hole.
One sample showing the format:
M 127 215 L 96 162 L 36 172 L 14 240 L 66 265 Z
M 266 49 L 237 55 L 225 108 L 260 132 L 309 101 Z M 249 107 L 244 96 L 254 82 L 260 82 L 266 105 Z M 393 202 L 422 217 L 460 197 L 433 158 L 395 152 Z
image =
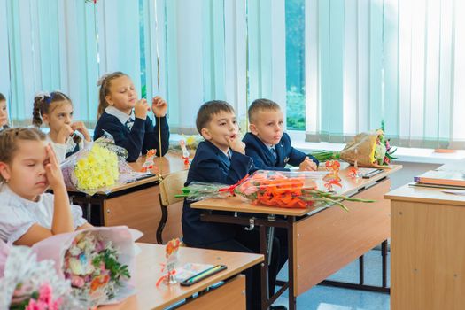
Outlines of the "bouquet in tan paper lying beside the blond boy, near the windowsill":
M 342 151 L 314 151 L 310 154 L 319 161 L 342 159 L 350 164 L 357 162 L 360 167 L 383 167 L 396 159 L 392 156 L 395 151 L 397 149 L 391 147 L 383 130 L 378 129 L 355 136 Z

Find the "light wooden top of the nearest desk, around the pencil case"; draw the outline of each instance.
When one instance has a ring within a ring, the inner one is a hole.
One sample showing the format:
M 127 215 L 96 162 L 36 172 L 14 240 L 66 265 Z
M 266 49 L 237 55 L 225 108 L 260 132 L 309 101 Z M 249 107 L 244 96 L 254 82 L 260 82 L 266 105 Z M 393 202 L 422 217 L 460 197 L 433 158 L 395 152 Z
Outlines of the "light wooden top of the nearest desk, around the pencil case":
M 136 298 L 138 309 L 162 309 L 192 294 L 202 291 L 208 286 L 218 283 L 230 276 L 237 275 L 248 267 L 263 261 L 263 255 L 242 252 L 224 252 L 182 247 L 179 250 L 180 265 L 188 262 L 203 264 L 224 264 L 228 268 L 216 275 L 191 286 L 183 287 L 180 284 L 167 286 L 155 283 L 161 273 L 160 264 L 165 263 L 165 245 L 137 244 L 142 252 L 136 256 Z M 128 300 L 131 302 L 131 300 Z M 133 301 L 132 301 L 133 302 Z M 106 308 L 105 308 L 106 309 Z

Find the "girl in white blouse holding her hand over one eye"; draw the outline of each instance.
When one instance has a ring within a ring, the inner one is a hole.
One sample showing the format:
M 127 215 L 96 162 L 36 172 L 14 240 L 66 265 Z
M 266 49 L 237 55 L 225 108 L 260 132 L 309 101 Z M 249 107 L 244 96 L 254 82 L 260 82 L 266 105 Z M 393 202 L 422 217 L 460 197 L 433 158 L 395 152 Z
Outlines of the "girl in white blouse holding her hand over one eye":
M 45 193 L 49 187 L 54 194 Z M 36 128 L 0 132 L 0 201 L 0 239 L 10 244 L 92 227 L 69 204 L 57 157 Z

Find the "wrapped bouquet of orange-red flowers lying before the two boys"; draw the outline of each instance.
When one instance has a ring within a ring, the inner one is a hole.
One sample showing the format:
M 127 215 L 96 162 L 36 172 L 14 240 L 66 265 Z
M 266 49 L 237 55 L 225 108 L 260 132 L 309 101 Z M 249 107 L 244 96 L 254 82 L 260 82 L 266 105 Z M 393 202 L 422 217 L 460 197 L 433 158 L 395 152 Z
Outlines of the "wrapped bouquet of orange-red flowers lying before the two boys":
M 237 195 L 252 205 L 277 206 L 283 208 L 307 208 L 310 206 L 339 205 L 347 211 L 342 201 L 374 202 L 373 200 L 348 198 L 335 193 L 318 190 L 315 182 L 321 178 L 319 172 L 281 172 L 259 170 L 235 185 L 191 182 L 177 197 L 189 200 L 224 198 Z

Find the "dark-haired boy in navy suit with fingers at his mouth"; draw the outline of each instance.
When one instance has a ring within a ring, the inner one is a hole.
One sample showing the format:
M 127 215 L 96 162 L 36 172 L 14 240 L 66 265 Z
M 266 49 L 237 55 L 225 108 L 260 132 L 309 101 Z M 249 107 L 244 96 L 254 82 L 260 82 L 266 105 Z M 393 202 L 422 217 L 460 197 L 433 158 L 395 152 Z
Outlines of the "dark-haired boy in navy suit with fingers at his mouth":
M 194 181 L 235 184 L 249 174 L 253 167 L 252 159 L 245 155 L 236 115 L 228 103 L 219 100 L 206 102 L 198 110 L 196 127 L 205 141 L 198 144 L 186 186 Z M 191 208 L 187 199 L 182 208 L 182 235 L 188 246 L 255 252 L 255 249 L 244 245 L 244 239 L 255 235 L 246 236 L 244 228 L 237 225 L 201 221 L 200 211 Z M 260 309 L 260 267 L 246 270 L 245 275 L 247 308 Z

